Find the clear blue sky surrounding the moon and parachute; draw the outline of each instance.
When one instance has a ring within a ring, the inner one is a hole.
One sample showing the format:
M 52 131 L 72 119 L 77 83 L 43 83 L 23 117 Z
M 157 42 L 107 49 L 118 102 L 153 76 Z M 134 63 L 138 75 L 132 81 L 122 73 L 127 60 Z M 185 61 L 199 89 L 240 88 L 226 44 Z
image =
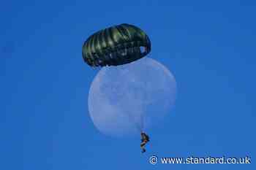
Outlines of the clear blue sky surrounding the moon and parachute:
M 152 154 L 255 161 L 255 1 L 2 1 L 0 11 L 0 169 L 255 169 L 148 163 Z M 119 23 L 146 31 L 151 58 L 178 84 L 145 155 L 140 136 L 104 136 L 88 113 L 97 71 L 81 46 Z

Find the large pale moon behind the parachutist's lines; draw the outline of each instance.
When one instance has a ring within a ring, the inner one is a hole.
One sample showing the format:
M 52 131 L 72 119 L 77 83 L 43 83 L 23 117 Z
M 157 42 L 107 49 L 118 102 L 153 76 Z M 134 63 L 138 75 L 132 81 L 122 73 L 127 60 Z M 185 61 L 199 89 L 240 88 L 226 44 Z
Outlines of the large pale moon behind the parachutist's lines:
M 89 115 L 109 136 L 130 136 L 160 123 L 175 104 L 176 80 L 151 58 L 103 67 L 89 90 Z

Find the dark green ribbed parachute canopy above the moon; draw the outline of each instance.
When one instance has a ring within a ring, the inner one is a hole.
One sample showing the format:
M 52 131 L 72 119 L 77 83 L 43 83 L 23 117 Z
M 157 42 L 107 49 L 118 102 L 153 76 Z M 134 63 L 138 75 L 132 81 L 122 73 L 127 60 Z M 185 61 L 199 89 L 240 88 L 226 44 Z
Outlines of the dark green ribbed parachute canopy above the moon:
M 143 58 L 150 50 L 151 42 L 146 33 L 123 23 L 89 36 L 82 54 L 89 66 L 118 66 Z

